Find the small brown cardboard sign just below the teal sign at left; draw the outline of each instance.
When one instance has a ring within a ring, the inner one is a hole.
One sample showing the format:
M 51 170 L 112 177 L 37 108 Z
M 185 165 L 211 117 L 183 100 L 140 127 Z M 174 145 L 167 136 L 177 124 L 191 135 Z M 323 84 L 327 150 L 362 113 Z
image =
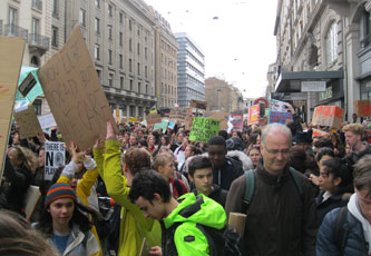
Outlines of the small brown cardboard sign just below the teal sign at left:
M 14 119 L 19 125 L 19 136 L 22 139 L 42 135 L 42 130 L 32 105 L 29 105 L 25 110 L 14 112 Z

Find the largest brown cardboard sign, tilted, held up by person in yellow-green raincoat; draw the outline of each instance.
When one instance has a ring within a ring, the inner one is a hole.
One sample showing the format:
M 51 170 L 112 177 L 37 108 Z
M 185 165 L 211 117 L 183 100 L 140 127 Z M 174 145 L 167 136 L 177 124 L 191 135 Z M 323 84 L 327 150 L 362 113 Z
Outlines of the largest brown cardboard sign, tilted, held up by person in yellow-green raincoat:
M 86 150 L 106 137 L 107 121 L 115 121 L 79 26 L 38 76 L 66 144 Z

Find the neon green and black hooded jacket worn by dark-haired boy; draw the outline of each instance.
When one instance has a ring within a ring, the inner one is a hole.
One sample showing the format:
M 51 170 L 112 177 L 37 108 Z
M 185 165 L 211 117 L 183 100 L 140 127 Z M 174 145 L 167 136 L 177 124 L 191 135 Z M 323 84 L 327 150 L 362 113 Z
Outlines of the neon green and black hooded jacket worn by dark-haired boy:
M 209 255 L 207 238 L 196 225 L 222 229 L 226 224 L 223 207 L 203 194 L 189 193 L 178 201 L 180 204 L 162 220 L 164 256 Z M 175 232 L 173 225 L 178 225 Z

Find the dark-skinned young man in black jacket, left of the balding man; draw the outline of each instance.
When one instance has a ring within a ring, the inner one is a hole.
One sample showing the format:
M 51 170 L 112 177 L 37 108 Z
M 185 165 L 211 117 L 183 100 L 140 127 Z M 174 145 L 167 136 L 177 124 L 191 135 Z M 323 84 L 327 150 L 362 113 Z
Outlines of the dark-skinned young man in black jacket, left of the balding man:
M 207 146 L 208 158 L 213 164 L 213 184 L 230 190 L 232 181 L 244 174 L 242 163 L 226 157 L 226 144 L 221 136 L 211 138 Z

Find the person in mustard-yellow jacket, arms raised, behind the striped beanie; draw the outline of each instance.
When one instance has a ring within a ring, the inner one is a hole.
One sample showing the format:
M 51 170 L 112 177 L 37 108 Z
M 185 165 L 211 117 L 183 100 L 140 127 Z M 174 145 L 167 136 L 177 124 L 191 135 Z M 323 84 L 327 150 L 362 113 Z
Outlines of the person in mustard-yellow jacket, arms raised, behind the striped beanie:
M 80 170 L 78 167 L 78 164 L 81 163 L 82 152 L 77 151 L 77 146 L 74 142 L 71 142 L 69 148 L 70 148 L 70 152 L 72 155 L 71 161 L 67 166 L 65 166 L 57 183 L 64 183 L 64 184 L 71 185 L 71 183 L 75 181 L 74 180 L 75 174 Z M 89 206 L 88 197 L 90 196 L 91 187 L 94 186 L 94 184 L 96 183 L 96 179 L 98 177 L 98 168 L 97 168 L 95 160 L 89 156 L 84 156 L 84 166 L 87 169 L 87 171 L 84 174 L 82 178 L 77 183 L 75 189 L 76 189 L 76 195 L 79 198 L 79 200 L 82 203 L 82 205 Z M 100 248 L 97 256 L 102 256 L 99 236 L 98 236 L 96 227 L 94 225 L 91 227 L 91 233 L 97 238 L 99 248 Z

